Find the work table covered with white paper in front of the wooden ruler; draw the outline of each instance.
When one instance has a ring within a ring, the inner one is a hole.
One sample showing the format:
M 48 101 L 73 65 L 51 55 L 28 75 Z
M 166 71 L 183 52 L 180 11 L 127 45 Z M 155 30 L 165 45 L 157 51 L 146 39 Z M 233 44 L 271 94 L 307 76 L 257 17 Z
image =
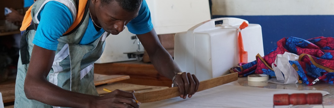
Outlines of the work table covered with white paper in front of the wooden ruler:
M 332 83 L 320 82 L 312 86 L 307 86 L 305 83 L 279 85 L 265 82 L 248 82 L 246 77 L 196 92 L 191 98 L 175 97 L 143 103 L 140 106 L 143 108 L 273 108 L 273 94 L 310 92 L 321 92 L 324 97 L 325 108 L 334 108 L 334 85 Z M 318 107 L 319 105 L 295 105 L 291 108 L 313 108 L 314 106 Z M 275 108 L 286 107 L 289 106 L 275 106 Z

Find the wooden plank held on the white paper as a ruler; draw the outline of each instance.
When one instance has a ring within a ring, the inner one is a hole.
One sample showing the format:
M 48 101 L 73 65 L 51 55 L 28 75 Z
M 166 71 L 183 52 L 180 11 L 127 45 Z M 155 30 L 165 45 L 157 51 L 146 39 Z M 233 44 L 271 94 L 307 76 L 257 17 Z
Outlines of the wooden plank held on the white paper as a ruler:
M 238 74 L 232 73 L 218 78 L 201 81 L 197 92 L 238 80 Z M 170 87 L 156 91 L 135 92 L 136 99 L 141 103 L 155 102 L 180 96 L 179 87 Z

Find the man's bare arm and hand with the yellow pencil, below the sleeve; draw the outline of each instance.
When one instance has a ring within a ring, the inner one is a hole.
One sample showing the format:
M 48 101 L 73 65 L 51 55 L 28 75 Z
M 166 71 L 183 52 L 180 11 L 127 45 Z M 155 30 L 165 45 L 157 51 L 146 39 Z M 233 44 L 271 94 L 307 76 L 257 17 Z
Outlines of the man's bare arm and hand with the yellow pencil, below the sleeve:
M 47 81 L 54 56 L 55 51 L 34 45 L 24 81 L 24 93 L 28 99 L 60 107 L 139 108 L 131 92 L 115 90 L 104 96 L 94 96 L 65 90 Z

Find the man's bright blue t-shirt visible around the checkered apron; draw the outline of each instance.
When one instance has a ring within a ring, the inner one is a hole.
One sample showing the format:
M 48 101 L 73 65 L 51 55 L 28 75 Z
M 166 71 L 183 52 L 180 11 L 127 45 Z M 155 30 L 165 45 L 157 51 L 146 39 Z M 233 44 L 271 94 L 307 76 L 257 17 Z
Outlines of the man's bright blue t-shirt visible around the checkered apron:
M 74 22 L 70 10 L 57 1 L 49 1 L 44 5 L 37 18 L 39 24 L 32 43 L 45 49 L 57 50 L 59 43 L 57 39 Z M 152 30 L 151 14 L 145 0 L 142 2 L 138 16 L 131 20 L 127 27 L 134 34 L 144 34 Z M 103 32 L 103 28 L 99 31 L 95 29 L 91 17 L 89 17 L 87 30 L 79 44 L 90 44 L 99 38 Z

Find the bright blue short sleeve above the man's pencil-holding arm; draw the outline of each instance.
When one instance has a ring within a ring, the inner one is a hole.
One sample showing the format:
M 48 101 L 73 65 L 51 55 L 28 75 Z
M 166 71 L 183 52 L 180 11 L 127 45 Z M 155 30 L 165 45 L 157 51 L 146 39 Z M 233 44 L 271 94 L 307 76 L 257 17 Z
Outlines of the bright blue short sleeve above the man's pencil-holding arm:
M 57 39 L 72 24 L 73 16 L 69 8 L 57 1 L 49 1 L 40 12 L 39 24 L 32 43 L 55 51 L 59 43 Z

